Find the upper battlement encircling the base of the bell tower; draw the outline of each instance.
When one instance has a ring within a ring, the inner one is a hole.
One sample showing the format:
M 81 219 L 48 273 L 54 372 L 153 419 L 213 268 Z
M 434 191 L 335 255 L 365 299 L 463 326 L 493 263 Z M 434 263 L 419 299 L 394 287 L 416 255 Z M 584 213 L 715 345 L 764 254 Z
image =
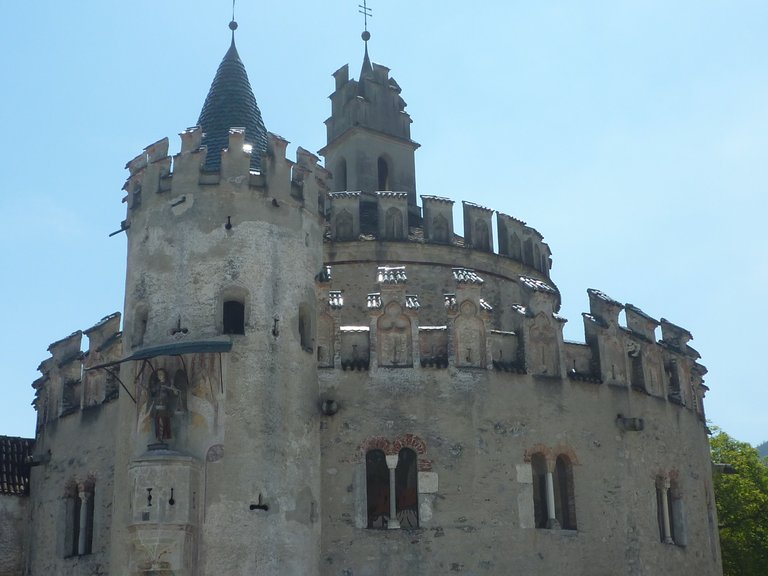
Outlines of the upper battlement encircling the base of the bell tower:
M 549 276 L 552 252 L 536 229 L 522 220 L 472 202 L 462 202 L 464 236 L 454 232 L 454 201 L 421 196 L 419 225 L 409 225 L 405 192 L 332 192 L 327 237 L 332 242 L 393 241 L 460 246 L 504 256 Z M 493 214 L 496 214 L 496 237 Z M 494 246 L 498 246 L 495 251 Z

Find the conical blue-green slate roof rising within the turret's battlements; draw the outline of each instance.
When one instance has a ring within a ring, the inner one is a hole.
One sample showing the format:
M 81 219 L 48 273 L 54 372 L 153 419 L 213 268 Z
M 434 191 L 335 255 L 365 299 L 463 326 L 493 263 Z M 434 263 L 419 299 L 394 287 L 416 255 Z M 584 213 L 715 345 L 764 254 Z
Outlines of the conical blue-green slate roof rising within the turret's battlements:
M 197 124 L 203 130 L 202 144 L 208 147 L 206 170 L 221 167 L 221 151 L 229 146 L 229 129 L 243 127 L 245 141 L 253 146 L 251 169 L 261 168 L 261 155 L 267 149 L 267 129 L 245 66 L 237 53 L 234 35 L 216 71 Z

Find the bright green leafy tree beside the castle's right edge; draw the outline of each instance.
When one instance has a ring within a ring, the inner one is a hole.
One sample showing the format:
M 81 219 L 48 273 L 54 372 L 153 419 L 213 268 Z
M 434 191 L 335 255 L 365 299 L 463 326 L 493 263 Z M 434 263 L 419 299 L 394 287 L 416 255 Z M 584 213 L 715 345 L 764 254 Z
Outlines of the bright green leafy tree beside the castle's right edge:
M 768 464 L 758 451 L 718 431 L 710 440 L 712 461 L 735 473 L 715 472 L 725 576 L 768 574 Z

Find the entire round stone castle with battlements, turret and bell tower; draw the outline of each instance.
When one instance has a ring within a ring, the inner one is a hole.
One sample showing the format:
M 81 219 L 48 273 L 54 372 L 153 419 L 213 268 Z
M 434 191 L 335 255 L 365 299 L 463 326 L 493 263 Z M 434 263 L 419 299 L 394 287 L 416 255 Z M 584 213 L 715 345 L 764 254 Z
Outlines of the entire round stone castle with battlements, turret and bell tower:
M 537 230 L 417 195 L 367 35 L 323 165 L 286 158 L 231 28 L 180 152 L 126 166 L 123 314 L 0 439 L 0 575 L 721 574 L 691 334 L 588 290 L 564 341 Z

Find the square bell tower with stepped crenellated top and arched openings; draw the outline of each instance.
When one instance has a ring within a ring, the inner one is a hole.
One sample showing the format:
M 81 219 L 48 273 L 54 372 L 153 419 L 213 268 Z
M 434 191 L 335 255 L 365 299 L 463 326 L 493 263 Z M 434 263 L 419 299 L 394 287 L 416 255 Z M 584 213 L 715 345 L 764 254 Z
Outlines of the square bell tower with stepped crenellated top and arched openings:
M 406 192 L 409 219 L 418 219 L 414 153 L 419 144 L 411 139 L 411 117 L 389 68 L 371 62 L 367 29 L 362 38 L 359 78 L 350 79 L 346 64 L 333 74 L 327 144 L 320 154 L 333 174 L 332 191 L 362 192 L 361 204 L 377 191 Z

